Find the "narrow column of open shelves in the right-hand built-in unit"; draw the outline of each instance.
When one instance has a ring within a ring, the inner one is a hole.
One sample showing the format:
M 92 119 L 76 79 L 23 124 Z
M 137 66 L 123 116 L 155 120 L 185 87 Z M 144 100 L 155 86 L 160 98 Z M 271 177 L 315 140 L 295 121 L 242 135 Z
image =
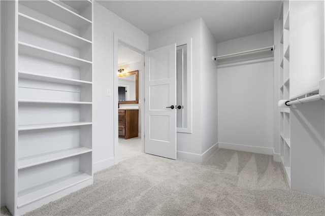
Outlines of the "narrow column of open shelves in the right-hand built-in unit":
M 289 1 L 284 1 L 280 16 L 280 99 L 289 99 L 290 95 L 290 45 L 289 45 L 289 23 L 290 10 Z M 290 109 L 280 109 L 280 157 L 283 170 L 290 187 Z

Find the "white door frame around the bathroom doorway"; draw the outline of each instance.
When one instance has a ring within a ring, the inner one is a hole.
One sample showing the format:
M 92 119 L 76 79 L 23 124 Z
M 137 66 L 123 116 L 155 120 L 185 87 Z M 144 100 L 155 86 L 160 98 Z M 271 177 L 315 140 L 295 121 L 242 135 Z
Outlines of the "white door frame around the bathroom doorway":
M 118 79 L 117 79 L 117 70 L 118 70 L 118 42 L 123 43 L 125 46 L 142 53 L 142 62 L 144 63 L 144 53 L 145 51 L 134 47 L 132 45 L 127 44 L 127 42 L 124 42 L 119 39 L 118 34 L 116 32 L 113 33 L 113 71 L 116 71 L 114 74 L 114 90 L 118 88 Z M 141 71 L 142 73 L 139 74 L 139 80 L 141 80 L 141 85 L 139 85 L 139 91 L 141 94 L 139 95 L 139 103 L 141 104 L 141 151 L 144 152 L 144 114 L 145 114 L 145 105 L 144 105 L 144 64 L 141 65 Z M 118 148 L 118 92 L 114 92 L 114 164 L 118 164 L 119 162 L 119 148 Z

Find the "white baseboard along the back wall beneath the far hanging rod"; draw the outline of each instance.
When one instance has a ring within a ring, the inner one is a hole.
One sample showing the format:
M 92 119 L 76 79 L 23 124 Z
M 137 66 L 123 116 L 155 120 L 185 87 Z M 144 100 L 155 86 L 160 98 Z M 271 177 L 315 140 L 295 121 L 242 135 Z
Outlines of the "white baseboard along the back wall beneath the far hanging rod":
M 246 146 L 246 145 L 238 145 L 238 144 L 225 143 L 225 142 L 219 142 L 218 146 L 219 146 L 219 149 L 230 149 L 230 150 L 236 150 L 236 151 L 242 151 L 242 152 L 273 155 L 273 148 Z

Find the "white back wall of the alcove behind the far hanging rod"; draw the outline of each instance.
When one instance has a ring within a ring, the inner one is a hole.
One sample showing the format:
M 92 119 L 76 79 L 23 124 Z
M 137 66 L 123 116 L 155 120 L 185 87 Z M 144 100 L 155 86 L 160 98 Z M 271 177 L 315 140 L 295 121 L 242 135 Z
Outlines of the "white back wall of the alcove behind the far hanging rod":
M 273 45 L 273 31 L 218 43 L 218 55 Z M 218 68 L 219 148 L 273 154 L 273 61 Z

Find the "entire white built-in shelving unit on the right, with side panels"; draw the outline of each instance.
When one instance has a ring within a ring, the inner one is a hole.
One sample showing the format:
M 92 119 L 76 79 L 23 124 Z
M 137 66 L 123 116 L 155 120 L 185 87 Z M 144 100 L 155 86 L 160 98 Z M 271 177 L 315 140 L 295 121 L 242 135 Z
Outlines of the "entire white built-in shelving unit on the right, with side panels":
M 279 99 L 320 94 L 324 78 L 323 1 L 283 1 Z M 303 15 L 302 15 L 303 14 Z M 277 37 L 276 37 L 277 38 Z M 325 102 L 280 108 L 280 156 L 291 190 L 325 197 Z

